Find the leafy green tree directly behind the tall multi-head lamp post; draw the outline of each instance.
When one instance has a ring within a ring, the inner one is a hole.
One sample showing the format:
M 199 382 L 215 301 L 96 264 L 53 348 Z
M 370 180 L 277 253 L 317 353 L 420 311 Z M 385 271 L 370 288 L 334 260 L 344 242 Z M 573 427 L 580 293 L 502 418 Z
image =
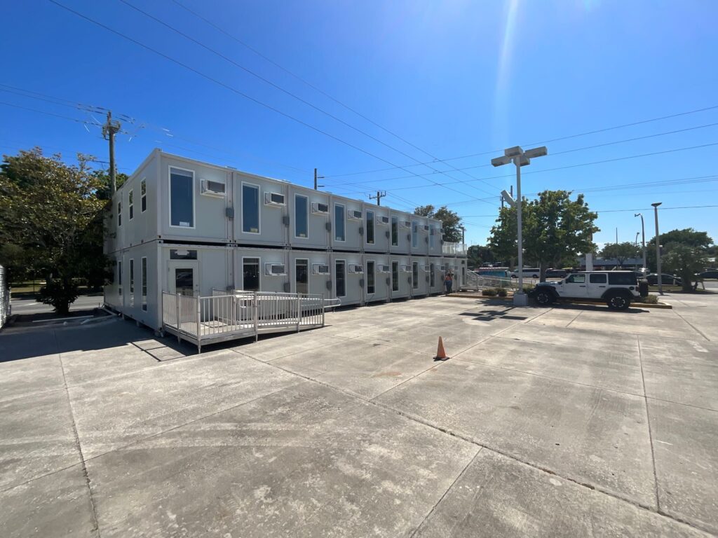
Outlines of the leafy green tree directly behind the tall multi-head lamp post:
M 546 280 L 549 265 L 559 267 L 563 260 L 592 252 L 592 236 L 599 228 L 598 215 L 589 210 L 583 194 L 572 200 L 567 191 L 544 191 L 538 199 L 522 202 L 524 260 L 541 268 Z M 499 210 L 497 225 L 491 229 L 489 247 L 498 258 L 516 256 L 516 208 Z

